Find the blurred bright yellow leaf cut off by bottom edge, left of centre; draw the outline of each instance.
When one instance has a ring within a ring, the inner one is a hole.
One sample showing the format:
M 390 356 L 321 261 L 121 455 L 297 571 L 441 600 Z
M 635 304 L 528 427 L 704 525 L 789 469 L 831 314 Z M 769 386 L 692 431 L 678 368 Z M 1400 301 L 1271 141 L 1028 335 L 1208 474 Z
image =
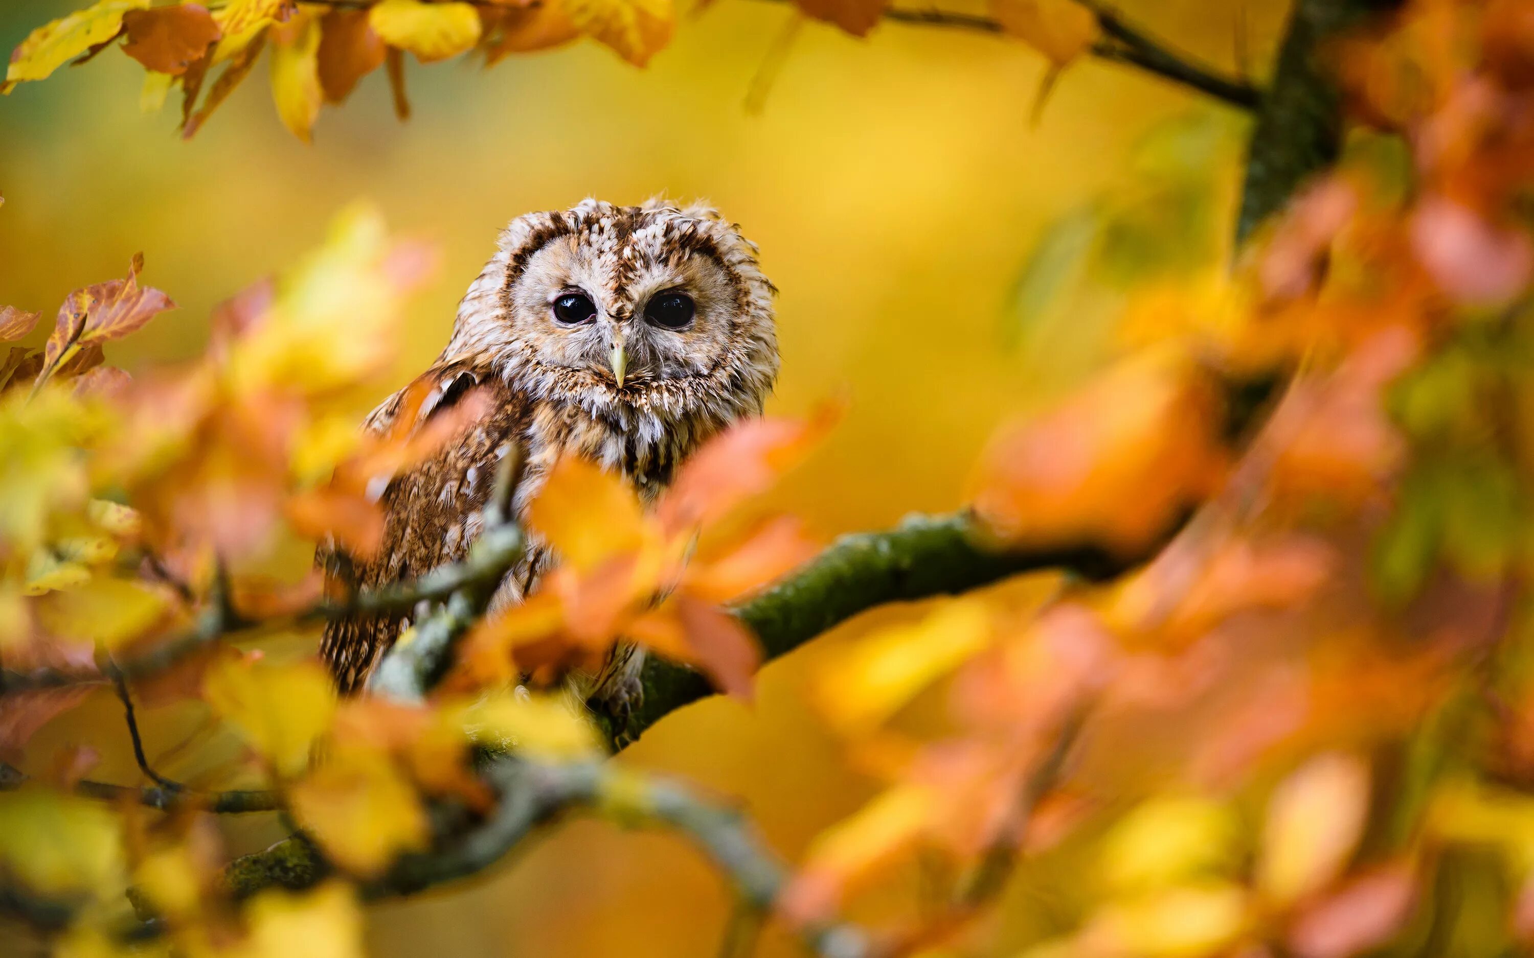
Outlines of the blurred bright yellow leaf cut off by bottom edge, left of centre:
M 305 895 L 265 891 L 245 907 L 245 958 L 365 958 L 356 891 L 339 881 Z

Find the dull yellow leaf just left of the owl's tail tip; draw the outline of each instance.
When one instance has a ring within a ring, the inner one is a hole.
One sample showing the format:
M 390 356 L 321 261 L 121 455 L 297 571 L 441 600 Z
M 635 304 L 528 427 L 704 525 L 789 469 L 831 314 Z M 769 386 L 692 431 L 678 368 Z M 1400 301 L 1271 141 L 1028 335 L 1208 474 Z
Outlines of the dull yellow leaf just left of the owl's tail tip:
M 285 665 L 224 659 L 209 670 L 202 697 L 281 776 L 308 765 L 310 745 L 336 710 L 330 676 L 308 659 Z

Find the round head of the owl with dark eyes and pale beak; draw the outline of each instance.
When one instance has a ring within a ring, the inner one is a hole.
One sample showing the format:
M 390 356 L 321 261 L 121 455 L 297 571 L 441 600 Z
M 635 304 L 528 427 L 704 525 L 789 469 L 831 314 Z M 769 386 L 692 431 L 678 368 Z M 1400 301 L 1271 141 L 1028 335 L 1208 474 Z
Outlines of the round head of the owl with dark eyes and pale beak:
M 586 199 L 518 216 L 469 287 L 443 357 L 624 429 L 726 425 L 778 374 L 756 245 L 703 205 Z

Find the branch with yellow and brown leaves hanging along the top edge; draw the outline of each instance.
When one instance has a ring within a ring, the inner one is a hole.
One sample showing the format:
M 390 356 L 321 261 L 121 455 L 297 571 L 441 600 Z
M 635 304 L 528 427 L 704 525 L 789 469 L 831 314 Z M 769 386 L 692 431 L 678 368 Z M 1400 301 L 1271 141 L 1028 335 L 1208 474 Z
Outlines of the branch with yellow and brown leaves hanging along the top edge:
M 881 20 L 1005 35 L 1043 54 L 1054 69 L 1091 55 L 1123 63 L 1241 109 L 1259 90 L 1244 78 L 1175 52 L 1095 0 L 992 0 L 991 15 L 907 9 L 882 0 L 801 0 L 798 14 L 867 35 Z M 0 90 L 49 77 L 117 46 L 146 69 L 141 103 L 181 94 L 181 133 L 192 136 L 270 49 L 272 97 L 282 123 L 308 141 L 321 107 L 341 104 L 368 74 L 385 67 L 400 120 L 410 116 L 405 54 L 420 63 L 459 55 L 486 64 L 591 37 L 635 66 L 675 29 L 669 0 L 637 3 L 546 0 L 526 6 L 425 0 L 239 0 L 150 6 L 101 0 L 38 28 L 12 54 Z M 1046 84 L 1048 86 L 1048 84 Z

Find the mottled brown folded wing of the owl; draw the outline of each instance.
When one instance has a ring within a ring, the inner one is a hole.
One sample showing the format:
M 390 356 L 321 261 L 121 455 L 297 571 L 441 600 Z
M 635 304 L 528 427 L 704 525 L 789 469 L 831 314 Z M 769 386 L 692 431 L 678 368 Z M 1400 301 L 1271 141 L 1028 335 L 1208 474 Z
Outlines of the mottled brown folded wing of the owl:
M 321 547 L 316 563 L 341 592 L 408 582 L 462 559 L 479 535 L 479 512 L 494 486 L 495 464 L 522 429 L 525 405 L 497 376 L 468 360 L 440 362 L 374 409 L 374 434 L 416 437 L 471 394 L 488 394 L 488 412 L 425 460 L 394 474 L 377 490 L 384 536 L 371 558 Z M 373 490 L 370 490 L 370 495 Z M 407 615 L 348 616 L 325 625 L 319 651 L 336 687 L 350 694 L 407 625 Z

